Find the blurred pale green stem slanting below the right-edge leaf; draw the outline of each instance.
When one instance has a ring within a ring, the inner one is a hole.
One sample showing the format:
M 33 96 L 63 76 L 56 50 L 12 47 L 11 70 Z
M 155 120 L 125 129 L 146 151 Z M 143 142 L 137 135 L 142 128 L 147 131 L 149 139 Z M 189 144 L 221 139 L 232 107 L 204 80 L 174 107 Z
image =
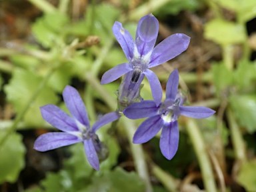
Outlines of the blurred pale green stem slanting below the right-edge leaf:
M 237 160 L 241 161 L 241 163 L 245 163 L 247 161 L 246 152 L 245 152 L 245 143 L 243 141 L 242 133 L 235 121 L 235 117 L 231 109 L 227 108 L 227 118 L 230 127 L 231 133 L 231 141 L 233 143 L 235 157 Z

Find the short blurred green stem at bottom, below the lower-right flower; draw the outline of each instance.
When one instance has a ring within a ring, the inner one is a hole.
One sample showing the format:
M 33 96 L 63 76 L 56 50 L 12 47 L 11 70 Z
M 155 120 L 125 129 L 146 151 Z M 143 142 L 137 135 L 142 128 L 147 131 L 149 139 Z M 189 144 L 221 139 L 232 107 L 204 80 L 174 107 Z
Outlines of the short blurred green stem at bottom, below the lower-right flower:
M 152 165 L 151 171 L 163 186 L 165 186 L 165 189 L 171 192 L 178 191 L 179 184 L 181 183 L 178 179 L 175 179 L 175 177 L 169 175 L 155 164 Z

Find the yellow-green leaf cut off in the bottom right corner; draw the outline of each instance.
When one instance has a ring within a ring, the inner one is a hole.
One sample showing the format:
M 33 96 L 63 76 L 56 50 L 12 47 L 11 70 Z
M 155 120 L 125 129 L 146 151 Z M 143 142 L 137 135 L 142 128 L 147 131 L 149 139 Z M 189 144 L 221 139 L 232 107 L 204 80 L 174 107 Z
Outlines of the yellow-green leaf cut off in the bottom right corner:
M 245 187 L 246 191 L 256 191 L 256 160 L 251 160 L 242 165 L 237 181 Z

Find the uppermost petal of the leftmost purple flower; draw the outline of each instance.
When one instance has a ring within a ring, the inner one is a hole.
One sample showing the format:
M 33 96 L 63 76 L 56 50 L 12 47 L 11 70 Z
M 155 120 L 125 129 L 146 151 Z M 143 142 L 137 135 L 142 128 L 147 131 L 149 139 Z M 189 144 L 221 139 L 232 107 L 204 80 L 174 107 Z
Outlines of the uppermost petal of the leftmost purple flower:
M 79 121 L 86 127 L 89 127 L 90 124 L 85 104 L 83 103 L 83 100 L 79 95 L 77 89 L 67 85 L 63 91 L 63 99 L 71 115 L 75 117 L 77 121 Z

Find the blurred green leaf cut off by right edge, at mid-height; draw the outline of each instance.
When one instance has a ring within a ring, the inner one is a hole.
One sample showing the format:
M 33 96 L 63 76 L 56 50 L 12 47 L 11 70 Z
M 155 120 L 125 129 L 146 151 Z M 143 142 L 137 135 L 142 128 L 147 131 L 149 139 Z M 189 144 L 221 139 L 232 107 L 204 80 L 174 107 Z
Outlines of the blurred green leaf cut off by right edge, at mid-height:
M 256 131 L 256 95 L 231 95 L 229 103 L 240 125 L 249 133 Z

